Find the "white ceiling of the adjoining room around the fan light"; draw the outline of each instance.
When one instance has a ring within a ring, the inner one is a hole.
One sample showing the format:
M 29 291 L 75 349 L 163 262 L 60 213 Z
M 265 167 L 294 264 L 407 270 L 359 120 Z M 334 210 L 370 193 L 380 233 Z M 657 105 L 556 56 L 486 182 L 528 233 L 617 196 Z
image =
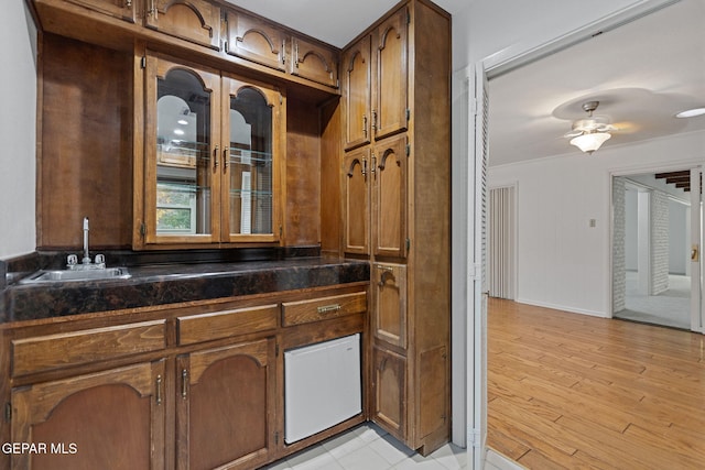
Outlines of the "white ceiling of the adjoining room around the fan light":
M 587 117 L 582 105 L 617 131 L 599 152 L 705 129 L 705 116 L 676 119 L 705 106 L 705 2 L 682 0 L 489 83 L 489 164 L 584 155 L 563 135 Z M 705 150 L 705 142 L 704 142 Z M 586 155 L 586 157 L 588 157 Z

